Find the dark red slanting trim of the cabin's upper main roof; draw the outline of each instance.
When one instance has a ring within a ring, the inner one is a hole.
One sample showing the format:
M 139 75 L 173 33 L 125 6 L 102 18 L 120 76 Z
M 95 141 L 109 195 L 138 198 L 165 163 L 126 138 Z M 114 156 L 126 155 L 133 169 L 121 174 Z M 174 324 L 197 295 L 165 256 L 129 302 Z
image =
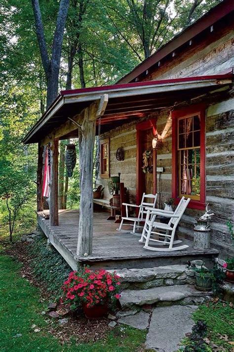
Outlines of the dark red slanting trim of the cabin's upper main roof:
M 197 34 L 201 33 L 203 30 L 205 30 L 218 20 L 222 19 L 224 16 L 228 15 L 233 10 L 233 0 L 224 0 L 220 2 L 217 6 L 211 8 L 201 18 L 199 18 L 195 23 L 193 23 L 191 26 L 186 28 L 174 38 L 172 38 L 171 41 L 163 45 L 155 53 L 153 53 L 147 59 L 142 61 L 139 65 L 134 67 L 132 71 L 120 78 L 117 83 L 131 82 L 133 79 L 135 79 L 140 74 L 149 69 L 151 66 L 153 66 L 156 62 L 162 60 L 162 58 L 168 55 L 170 52 L 176 50 L 181 45 L 193 39 Z

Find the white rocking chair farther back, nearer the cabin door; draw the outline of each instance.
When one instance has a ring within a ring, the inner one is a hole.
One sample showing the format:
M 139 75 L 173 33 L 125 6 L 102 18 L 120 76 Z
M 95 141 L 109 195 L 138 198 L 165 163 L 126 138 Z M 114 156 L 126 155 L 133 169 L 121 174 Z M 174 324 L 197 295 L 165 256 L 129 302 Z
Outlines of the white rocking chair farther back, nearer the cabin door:
M 152 199 L 153 202 L 147 202 L 146 200 L 148 199 Z M 140 223 L 141 222 L 145 222 L 146 219 L 144 218 L 144 214 L 147 214 L 147 210 L 145 210 L 146 207 L 148 207 L 148 209 L 155 209 L 156 207 L 156 200 L 157 200 L 157 194 L 153 195 L 153 194 L 148 194 L 146 195 L 145 193 L 143 193 L 142 196 L 142 200 L 141 200 L 141 204 L 140 205 L 136 205 L 136 204 L 128 204 L 128 203 L 122 203 L 122 205 L 126 206 L 126 216 L 122 217 L 119 228 L 117 229 L 117 231 L 121 231 L 122 230 L 122 226 L 123 225 L 130 225 L 133 226 L 133 231 L 131 232 L 131 234 L 133 235 L 139 235 L 136 234 L 136 228 L 143 228 L 144 226 L 141 226 Z M 139 208 L 139 213 L 138 213 L 138 217 L 131 217 L 129 216 L 129 209 L 128 207 L 135 207 L 135 208 Z M 150 216 L 150 215 L 149 215 Z M 133 222 L 134 224 L 129 224 L 129 223 L 125 223 L 124 224 L 124 220 L 125 221 L 130 221 Z M 141 235 L 140 235 L 141 236 Z

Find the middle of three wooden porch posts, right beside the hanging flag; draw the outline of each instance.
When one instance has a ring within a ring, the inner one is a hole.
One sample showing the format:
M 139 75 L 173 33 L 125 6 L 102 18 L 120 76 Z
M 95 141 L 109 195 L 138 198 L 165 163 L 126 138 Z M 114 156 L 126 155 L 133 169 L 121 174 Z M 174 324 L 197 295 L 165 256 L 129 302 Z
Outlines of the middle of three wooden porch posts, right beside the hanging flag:
M 59 140 L 51 141 L 50 187 L 49 187 L 49 225 L 58 226 L 58 155 Z

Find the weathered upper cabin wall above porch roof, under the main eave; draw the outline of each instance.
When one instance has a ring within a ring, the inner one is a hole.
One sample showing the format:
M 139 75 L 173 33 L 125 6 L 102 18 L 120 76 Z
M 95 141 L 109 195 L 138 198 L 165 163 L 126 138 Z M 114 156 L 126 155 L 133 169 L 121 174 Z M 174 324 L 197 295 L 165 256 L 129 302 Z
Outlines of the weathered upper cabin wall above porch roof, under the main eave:
M 160 62 L 151 68 L 149 74 L 142 81 L 155 79 L 172 79 L 212 75 L 234 66 L 234 31 L 233 25 L 225 29 L 214 28 L 210 36 L 203 42 L 191 46 L 165 62 Z

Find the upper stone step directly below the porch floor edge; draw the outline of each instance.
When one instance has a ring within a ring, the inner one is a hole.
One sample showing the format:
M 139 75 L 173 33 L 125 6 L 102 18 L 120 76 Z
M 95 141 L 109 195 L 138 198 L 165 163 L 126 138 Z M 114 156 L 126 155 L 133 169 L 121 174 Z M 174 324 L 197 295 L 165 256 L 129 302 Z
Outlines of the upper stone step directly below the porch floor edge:
M 109 270 L 113 272 L 114 270 Z M 194 271 L 187 265 L 164 265 L 143 269 L 116 270 L 124 289 L 148 289 L 163 285 L 194 284 Z

